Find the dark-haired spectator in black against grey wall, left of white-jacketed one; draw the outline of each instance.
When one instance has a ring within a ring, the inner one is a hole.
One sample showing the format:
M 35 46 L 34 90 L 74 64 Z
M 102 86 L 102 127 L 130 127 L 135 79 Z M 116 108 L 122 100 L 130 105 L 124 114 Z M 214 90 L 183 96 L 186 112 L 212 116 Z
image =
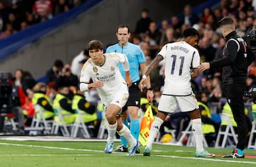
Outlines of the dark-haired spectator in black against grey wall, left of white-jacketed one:
M 46 84 L 49 84 L 52 81 L 56 82 L 61 75 L 62 69 L 63 69 L 62 60 L 56 59 L 53 64 L 53 67 L 51 67 L 50 69 L 48 69 L 48 71 L 46 71 Z

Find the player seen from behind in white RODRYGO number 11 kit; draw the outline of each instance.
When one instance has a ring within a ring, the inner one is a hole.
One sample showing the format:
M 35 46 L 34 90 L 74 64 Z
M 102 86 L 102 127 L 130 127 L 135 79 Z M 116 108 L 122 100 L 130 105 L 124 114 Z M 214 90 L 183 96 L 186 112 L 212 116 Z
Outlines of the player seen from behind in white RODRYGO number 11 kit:
M 150 156 L 152 144 L 156 134 L 159 132 L 161 124 L 164 122 L 166 115 L 174 113 L 177 105 L 181 109 L 181 112 L 187 112 L 191 117 L 193 134 L 196 140 L 196 157 L 215 156 L 215 154 L 210 154 L 203 149 L 201 115 L 198 110 L 197 100 L 191 88 L 191 79 L 196 78 L 199 74 L 197 68 L 200 64 L 200 55 L 198 50 L 193 47 L 196 45 L 198 36 L 199 34 L 196 29 L 186 28 L 183 31 L 183 40 L 164 45 L 142 76 L 142 80 L 139 83 L 141 91 L 146 77 L 151 70 L 162 59 L 166 59 L 164 91 L 159 100 L 159 112 L 156 114 L 156 118 L 151 125 L 144 156 Z

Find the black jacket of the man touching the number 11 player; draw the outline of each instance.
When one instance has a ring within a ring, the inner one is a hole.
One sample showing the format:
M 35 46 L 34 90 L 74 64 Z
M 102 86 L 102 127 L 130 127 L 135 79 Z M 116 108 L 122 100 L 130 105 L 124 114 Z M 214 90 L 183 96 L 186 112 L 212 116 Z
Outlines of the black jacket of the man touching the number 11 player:
M 245 83 L 247 67 L 252 62 L 252 52 L 248 52 L 245 41 L 235 31 L 226 37 L 223 58 L 210 62 L 210 68 L 223 67 L 223 84 Z

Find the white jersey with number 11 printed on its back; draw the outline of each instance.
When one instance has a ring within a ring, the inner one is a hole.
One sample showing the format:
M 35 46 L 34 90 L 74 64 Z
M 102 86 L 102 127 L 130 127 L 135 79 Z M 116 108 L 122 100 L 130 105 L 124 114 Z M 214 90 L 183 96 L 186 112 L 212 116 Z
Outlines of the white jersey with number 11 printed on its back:
M 198 50 L 181 41 L 164 45 L 159 54 L 166 59 L 163 93 L 174 96 L 191 94 L 191 69 L 200 64 Z

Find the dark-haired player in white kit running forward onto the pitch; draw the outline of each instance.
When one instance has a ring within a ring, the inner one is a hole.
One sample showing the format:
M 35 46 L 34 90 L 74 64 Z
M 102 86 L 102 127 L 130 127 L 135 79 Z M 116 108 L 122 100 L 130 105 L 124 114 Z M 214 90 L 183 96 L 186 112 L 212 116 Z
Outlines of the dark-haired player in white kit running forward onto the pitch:
M 103 54 L 103 45 L 99 40 L 91 40 L 87 44 L 90 59 L 84 64 L 80 75 L 80 91 L 90 91 L 96 88 L 100 100 L 105 108 L 107 125 L 107 145 L 105 153 L 112 153 L 114 135 L 117 132 L 129 142 L 131 149 L 128 156 L 133 156 L 139 142 L 132 136 L 129 128 L 122 124 L 119 115 L 129 98 L 128 86 L 132 85 L 129 76 L 129 62 L 124 54 Z M 125 71 L 125 80 L 120 74 L 118 64 L 122 63 Z M 92 79 L 92 83 L 90 83 Z

